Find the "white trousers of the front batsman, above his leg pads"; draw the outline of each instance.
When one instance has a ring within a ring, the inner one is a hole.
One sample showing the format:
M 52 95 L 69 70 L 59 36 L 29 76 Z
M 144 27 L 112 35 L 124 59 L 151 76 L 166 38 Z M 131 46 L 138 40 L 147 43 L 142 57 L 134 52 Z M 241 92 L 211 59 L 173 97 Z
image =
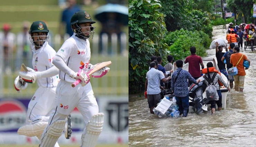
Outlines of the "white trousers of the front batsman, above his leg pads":
M 94 97 L 91 83 L 89 82 L 84 87 L 78 84 L 75 88 L 72 88 L 71 84 L 64 80 L 60 80 L 58 83 L 56 89 L 56 105 L 49 118 L 48 126 L 57 120 L 66 119 L 75 107 L 82 114 L 85 125 L 88 124 L 94 114 L 99 113 L 99 107 Z M 44 130 L 45 132 L 46 129 Z M 85 132 L 86 126 L 84 127 Z

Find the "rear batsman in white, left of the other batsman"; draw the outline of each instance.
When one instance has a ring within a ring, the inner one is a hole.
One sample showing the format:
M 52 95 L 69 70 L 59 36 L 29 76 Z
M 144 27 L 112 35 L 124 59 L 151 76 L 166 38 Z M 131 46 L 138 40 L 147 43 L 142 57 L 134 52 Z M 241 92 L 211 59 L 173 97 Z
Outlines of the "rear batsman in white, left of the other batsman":
M 35 83 L 37 80 L 39 88 L 28 104 L 26 125 L 19 128 L 18 134 L 29 137 L 36 136 L 39 140 L 53 111 L 58 84 L 56 76 L 58 68 L 52 64 L 56 52 L 48 45 L 48 32 L 45 22 L 33 22 L 29 30 L 29 37 L 33 44 L 32 65 L 34 69 L 27 67 L 28 72 L 20 72 L 15 79 L 17 91 L 26 89 L 27 83 Z M 24 81 L 25 84 L 22 84 Z M 59 147 L 57 142 L 53 146 Z

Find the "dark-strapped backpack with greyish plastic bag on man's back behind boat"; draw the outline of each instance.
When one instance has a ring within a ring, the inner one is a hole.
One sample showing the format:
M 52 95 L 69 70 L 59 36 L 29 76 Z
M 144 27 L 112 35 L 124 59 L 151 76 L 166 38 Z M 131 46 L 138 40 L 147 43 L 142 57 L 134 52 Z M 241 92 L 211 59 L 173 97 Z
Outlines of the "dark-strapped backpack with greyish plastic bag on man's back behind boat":
M 209 78 L 206 75 L 204 75 L 204 79 L 208 82 L 208 87 L 206 88 L 206 97 L 210 101 L 211 100 L 219 100 L 219 95 L 218 95 L 217 89 L 214 86 L 217 82 L 215 84 L 213 83 L 216 75 L 217 75 L 217 73 L 214 73 L 212 78 L 209 73 L 208 73 Z

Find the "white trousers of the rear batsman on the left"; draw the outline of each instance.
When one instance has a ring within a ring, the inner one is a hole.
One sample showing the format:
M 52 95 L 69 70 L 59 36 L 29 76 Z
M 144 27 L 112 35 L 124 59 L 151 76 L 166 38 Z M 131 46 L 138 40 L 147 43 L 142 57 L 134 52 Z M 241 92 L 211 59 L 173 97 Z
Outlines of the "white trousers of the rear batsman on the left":
M 43 88 L 39 87 L 28 104 L 26 116 L 26 125 L 31 125 L 34 118 L 45 116 L 41 121 L 48 122 L 53 111 L 56 98 L 56 87 Z M 34 120 L 36 121 L 36 120 Z M 40 138 L 39 138 L 40 140 Z M 60 147 L 58 143 L 54 147 Z

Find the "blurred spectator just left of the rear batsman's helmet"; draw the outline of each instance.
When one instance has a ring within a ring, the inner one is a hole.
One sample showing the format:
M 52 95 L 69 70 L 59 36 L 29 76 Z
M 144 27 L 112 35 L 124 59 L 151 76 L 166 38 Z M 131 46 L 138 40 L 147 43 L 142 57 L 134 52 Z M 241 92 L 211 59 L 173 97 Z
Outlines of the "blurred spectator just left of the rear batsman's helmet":
M 16 70 L 20 70 L 20 64 L 24 63 L 28 67 L 32 67 L 32 52 L 28 35 L 30 23 L 23 22 L 22 31 L 17 34 L 17 56 Z

